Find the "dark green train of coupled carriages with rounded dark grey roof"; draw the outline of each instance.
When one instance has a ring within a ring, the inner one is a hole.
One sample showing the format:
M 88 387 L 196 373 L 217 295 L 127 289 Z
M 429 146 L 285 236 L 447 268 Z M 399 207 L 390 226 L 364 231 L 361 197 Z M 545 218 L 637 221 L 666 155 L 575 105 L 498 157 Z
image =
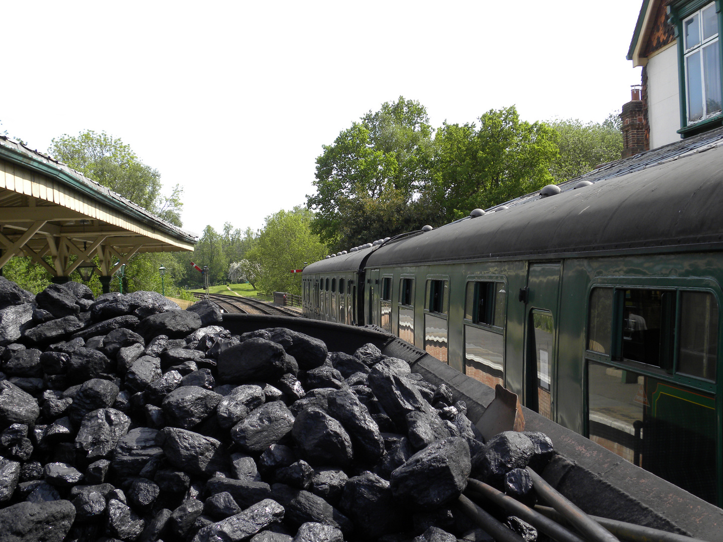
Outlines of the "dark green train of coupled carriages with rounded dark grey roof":
M 305 314 L 380 326 L 721 506 L 722 139 L 315 262 Z

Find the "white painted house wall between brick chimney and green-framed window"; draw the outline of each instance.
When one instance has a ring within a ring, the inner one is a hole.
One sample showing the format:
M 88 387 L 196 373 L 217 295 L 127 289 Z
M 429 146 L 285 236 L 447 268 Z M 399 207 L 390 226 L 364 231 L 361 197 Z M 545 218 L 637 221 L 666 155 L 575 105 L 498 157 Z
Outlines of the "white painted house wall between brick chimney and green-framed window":
M 648 59 L 650 148 L 680 141 L 677 45 L 675 41 Z

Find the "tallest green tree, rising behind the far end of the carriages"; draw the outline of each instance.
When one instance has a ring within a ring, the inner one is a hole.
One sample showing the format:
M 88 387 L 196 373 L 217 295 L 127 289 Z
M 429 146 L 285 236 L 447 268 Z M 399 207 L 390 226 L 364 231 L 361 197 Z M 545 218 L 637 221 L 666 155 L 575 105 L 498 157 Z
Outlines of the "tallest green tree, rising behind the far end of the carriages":
M 402 96 L 352 123 L 332 145 L 324 145 L 317 158 L 317 192 L 307 195 L 307 207 L 316 211 L 314 233 L 338 251 L 402 231 L 388 222 L 385 235 L 365 230 L 350 208 L 363 209 L 369 215 L 365 223 L 382 223 L 385 216 L 401 214 L 399 227 L 424 225 L 415 220 L 411 203 L 429 181 L 432 148 L 427 110 Z

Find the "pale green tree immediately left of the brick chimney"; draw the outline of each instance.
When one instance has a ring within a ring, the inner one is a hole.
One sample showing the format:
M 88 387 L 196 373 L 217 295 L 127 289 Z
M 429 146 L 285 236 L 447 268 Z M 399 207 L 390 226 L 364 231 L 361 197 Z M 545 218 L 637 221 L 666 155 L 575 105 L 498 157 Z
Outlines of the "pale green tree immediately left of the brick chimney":
M 611 113 L 601 123 L 583 123 L 578 119 L 552 121 L 560 157 L 550 167 L 559 183 L 576 178 L 596 165 L 620 160 L 623 154 L 623 132 L 620 116 Z

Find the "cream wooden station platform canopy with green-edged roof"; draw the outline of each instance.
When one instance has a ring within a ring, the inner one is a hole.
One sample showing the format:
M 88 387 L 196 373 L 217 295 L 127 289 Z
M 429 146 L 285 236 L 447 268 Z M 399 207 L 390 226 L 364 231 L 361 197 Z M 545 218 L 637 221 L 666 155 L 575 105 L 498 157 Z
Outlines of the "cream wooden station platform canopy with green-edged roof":
M 27 256 L 63 283 L 77 268 L 95 267 L 105 290 L 134 254 L 193 251 L 197 241 L 64 163 L 0 136 L 0 268 Z

